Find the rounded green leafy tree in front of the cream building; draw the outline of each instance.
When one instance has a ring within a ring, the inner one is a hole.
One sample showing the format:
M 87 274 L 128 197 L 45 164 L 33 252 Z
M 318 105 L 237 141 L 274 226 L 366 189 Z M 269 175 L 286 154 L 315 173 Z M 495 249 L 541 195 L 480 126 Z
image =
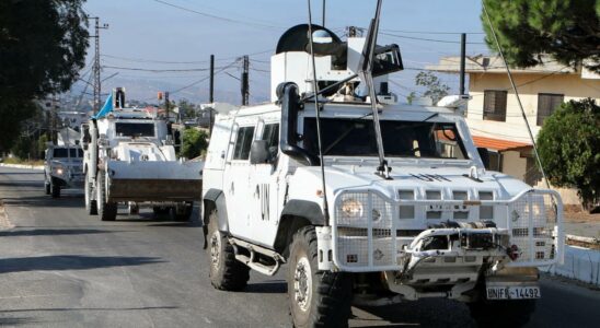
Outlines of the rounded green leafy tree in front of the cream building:
M 556 109 L 538 134 L 540 160 L 550 181 L 575 187 L 586 209 L 600 200 L 600 106 L 570 101 Z

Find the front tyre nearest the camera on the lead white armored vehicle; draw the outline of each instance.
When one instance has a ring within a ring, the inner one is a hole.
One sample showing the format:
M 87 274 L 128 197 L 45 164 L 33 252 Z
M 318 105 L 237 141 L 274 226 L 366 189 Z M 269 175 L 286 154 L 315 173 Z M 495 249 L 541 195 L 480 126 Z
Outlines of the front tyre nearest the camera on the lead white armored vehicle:
M 288 302 L 293 327 L 347 327 L 351 314 L 350 277 L 319 271 L 316 251 L 314 226 L 300 229 L 293 236 L 288 260 Z

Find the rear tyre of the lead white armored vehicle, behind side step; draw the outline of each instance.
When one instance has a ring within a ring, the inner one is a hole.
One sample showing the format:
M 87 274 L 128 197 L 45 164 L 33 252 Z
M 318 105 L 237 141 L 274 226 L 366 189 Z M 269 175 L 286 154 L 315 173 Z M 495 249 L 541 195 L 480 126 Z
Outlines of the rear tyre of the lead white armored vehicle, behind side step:
M 243 290 L 250 279 L 250 268 L 235 259 L 233 246 L 219 232 L 217 212 L 210 212 L 208 223 L 208 267 L 210 283 L 222 291 Z

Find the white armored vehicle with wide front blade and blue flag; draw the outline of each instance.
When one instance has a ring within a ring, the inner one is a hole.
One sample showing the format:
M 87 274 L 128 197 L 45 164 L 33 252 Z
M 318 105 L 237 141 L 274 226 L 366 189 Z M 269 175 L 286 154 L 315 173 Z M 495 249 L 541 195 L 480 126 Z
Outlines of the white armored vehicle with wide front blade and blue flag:
M 114 221 L 118 203 L 130 214 L 151 207 L 191 220 L 200 199 L 203 162 L 177 160 L 168 121 L 155 108 L 126 108 L 114 91 L 89 124 L 82 125 L 85 210 Z

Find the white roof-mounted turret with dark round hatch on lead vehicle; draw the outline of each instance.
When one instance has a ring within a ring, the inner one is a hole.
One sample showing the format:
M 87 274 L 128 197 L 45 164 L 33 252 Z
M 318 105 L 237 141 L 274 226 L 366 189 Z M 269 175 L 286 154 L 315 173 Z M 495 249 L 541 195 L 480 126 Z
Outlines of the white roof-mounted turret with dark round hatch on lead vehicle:
M 314 24 L 312 31 L 316 80 L 320 89 L 349 79 L 359 72 L 365 37 L 349 36 L 346 40 L 342 40 L 332 31 Z M 272 101 L 277 101 L 276 89 L 282 82 L 298 84 L 300 94 L 312 92 L 310 56 L 308 24 L 296 25 L 281 35 L 270 61 Z M 402 57 L 397 45 L 377 47 L 373 77 L 378 95 L 389 95 L 388 74 L 402 69 Z M 346 85 L 342 85 L 341 89 L 344 89 L 344 92 L 341 99 L 348 101 L 355 95 L 367 96 L 360 91 L 365 86 L 365 83 L 360 82 L 360 79 L 356 77 Z M 324 96 L 333 96 L 341 89 L 335 89 Z

